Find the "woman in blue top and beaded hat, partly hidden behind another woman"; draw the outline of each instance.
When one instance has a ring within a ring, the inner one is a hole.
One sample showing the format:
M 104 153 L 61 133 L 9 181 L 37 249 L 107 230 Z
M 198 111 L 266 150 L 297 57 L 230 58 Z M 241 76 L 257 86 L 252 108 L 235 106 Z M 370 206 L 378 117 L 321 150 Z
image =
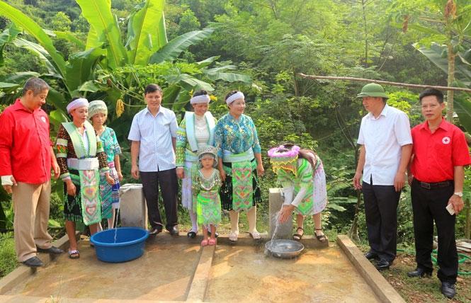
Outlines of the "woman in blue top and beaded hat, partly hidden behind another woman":
M 101 100 L 91 101 L 89 104 L 89 120 L 93 125 L 101 144 L 106 153 L 106 161 L 110 168 L 110 176 L 115 183 L 108 184 L 105 175 L 100 175 L 100 193 L 101 193 L 101 219 L 108 219 L 108 229 L 114 227 L 115 210 L 120 206 L 120 181 L 123 181 L 121 173 L 120 154 L 121 148 L 116 139 L 115 131 L 110 127 L 104 126 L 108 116 L 106 103 Z M 100 225 L 101 229 L 101 225 Z

